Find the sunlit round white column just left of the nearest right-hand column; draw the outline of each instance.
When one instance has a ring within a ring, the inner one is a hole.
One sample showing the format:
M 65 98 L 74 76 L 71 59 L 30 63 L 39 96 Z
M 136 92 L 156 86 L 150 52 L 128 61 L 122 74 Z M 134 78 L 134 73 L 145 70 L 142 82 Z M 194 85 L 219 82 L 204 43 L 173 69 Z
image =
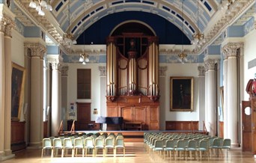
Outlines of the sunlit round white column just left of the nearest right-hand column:
M 206 62 L 207 67 L 207 132 L 209 135 L 216 135 L 216 87 L 215 87 L 215 70 L 214 65 L 216 61 L 213 59 L 208 59 Z

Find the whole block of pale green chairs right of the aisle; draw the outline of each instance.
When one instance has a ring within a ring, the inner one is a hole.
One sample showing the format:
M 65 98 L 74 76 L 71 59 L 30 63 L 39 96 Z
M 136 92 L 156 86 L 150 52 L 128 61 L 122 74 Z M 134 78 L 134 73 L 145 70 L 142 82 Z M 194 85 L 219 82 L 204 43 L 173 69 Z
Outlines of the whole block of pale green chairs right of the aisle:
M 154 158 L 156 152 L 159 153 L 161 158 L 165 159 L 165 153 L 169 154 L 174 153 L 174 159 L 176 160 L 177 156 L 181 156 L 183 152 L 184 159 L 187 159 L 187 154 L 192 157 L 192 153 L 196 158 L 202 158 L 202 153 L 204 156 L 209 159 L 210 156 L 213 156 L 213 150 L 216 150 L 216 153 L 219 156 L 219 151 L 222 153 L 223 149 L 227 151 L 231 148 L 230 139 L 222 139 L 216 137 L 209 137 L 207 135 L 177 135 L 177 134 L 156 134 L 148 133 L 144 135 L 144 144 L 147 148 L 146 150 Z M 228 156 L 228 155 L 227 155 Z

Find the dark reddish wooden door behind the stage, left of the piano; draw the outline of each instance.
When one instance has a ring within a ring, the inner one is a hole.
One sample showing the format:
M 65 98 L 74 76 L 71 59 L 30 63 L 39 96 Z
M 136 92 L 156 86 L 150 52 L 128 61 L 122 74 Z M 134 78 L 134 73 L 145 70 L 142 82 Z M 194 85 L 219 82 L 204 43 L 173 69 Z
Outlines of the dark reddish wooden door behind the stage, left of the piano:
M 91 123 L 91 103 L 77 103 L 76 130 L 88 130 Z

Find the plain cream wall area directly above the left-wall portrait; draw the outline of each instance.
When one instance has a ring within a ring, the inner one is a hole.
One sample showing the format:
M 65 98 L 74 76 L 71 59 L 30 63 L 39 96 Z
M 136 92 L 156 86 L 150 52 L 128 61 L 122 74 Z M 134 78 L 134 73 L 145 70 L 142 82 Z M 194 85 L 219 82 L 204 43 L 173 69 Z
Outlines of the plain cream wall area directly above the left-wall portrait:
M 13 30 L 11 39 L 11 61 L 24 67 L 24 37 Z

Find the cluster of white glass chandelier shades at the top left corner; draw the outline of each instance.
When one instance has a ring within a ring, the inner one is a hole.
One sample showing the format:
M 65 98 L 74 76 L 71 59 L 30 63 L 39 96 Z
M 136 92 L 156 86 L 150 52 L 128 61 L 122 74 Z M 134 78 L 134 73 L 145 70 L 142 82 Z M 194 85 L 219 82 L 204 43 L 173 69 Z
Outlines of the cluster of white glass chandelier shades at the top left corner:
M 38 1 L 38 4 L 36 1 L 31 0 L 29 3 L 29 7 L 35 8 L 38 11 L 38 15 L 44 16 L 46 14 L 43 11 L 43 9 L 52 11 L 52 6 L 51 6 L 51 4 L 49 4 L 49 1 L 48 1 L 48 3 L 44 0 L 37 0 L 37 1 Z

